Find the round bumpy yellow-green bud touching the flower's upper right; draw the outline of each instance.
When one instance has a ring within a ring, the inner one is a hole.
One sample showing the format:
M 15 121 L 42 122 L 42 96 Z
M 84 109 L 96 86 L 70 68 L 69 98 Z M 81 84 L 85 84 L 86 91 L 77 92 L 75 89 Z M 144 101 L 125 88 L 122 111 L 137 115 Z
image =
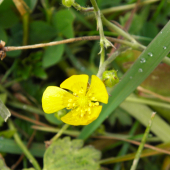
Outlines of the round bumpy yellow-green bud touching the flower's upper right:
M 102 80 L 107 87 L 113 87 L 115 84 L 119 82 L 117 71 L 115 70 L 104 71 Z

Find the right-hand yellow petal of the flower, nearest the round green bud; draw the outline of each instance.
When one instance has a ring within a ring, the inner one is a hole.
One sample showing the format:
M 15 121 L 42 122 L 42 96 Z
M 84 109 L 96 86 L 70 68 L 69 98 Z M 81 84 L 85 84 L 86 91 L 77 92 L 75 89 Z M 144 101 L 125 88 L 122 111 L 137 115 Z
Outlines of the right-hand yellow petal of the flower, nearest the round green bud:
M 108 93 L 104 83 L 95 75 L 92 75 L 91 85 L 87 96 L 91 97 L 92 101 L 99 101 L 102 103 L 108 103 Z

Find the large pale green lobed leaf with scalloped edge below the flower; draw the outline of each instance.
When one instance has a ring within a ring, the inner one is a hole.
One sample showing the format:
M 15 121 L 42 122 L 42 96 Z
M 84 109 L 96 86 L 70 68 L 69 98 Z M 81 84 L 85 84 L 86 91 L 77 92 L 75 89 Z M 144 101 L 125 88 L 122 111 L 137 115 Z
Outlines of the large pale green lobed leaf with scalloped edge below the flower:
M 46 150 L 43 170 L 99 170 L 101 153 L 80 139 L 59 139 Z

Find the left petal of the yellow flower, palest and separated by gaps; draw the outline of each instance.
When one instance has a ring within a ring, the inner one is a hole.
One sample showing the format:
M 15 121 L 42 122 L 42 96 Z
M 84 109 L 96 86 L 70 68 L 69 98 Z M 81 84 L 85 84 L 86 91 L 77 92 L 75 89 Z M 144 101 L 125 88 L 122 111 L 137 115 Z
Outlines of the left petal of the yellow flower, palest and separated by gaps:
M 67 107 L 68 100 L 74 96 L 56 86 L 48 86 L 43 93 L 42 107 L 45 113 L 54 113 Z

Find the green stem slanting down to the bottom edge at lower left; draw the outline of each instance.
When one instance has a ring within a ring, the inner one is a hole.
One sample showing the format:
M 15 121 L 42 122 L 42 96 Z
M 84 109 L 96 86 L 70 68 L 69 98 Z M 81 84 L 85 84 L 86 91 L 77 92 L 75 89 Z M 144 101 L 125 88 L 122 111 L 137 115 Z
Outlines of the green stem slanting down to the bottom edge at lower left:
M 14 127 L 14 124 L 13 124 L 13 122 L 10 119 L 8 120 L 8 126 L 9 126 L 9 128 L 11 130 L 15 130 L 16 131 L 16 128 Z M 36 159 L 32 156 L 32 154 L 29 152 L 27 147 L 23 144 L 23 142 L 22 142 L 21 138 L 19 137 L 18 133 L 16 132 L 13 136 L 14 136 L 14 139 L 15 139 L 16 143 L 21 148 L 21 150 L 24 152 L 24 154 L 28 158 L 28 160 L 32 163 L 34 168 L 36 170 L 41 170 L 40 165 L 38 164 Z

